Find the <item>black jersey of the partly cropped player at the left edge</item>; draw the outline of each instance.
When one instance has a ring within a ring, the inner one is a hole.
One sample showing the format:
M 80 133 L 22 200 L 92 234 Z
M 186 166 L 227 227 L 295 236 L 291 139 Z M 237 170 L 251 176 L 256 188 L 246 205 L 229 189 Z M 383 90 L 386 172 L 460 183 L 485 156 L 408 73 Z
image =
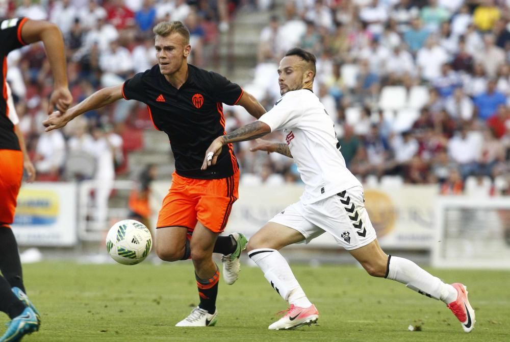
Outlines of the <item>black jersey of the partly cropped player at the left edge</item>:
M 7 106 L 7 55 L 23 45 L 21 27 L 27 18 L 5 19 L 0 21 L 0 62 L 2 62 L 2 75 L 0 84 L 2 96 L 0 96 L 0 150 L 20 150 L 18 137 L 14 133 L 14 125 L 9 119 L 9 107 Z

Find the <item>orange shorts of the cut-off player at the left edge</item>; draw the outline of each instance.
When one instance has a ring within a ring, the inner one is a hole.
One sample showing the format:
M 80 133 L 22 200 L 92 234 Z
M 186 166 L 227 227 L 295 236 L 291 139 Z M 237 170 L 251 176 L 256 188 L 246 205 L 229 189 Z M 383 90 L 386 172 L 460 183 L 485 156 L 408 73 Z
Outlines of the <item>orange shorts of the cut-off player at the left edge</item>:
M 0 223 L 11 224 L 16 211 L 21 179 L 23 178 L 23 153 L 0 150 Z

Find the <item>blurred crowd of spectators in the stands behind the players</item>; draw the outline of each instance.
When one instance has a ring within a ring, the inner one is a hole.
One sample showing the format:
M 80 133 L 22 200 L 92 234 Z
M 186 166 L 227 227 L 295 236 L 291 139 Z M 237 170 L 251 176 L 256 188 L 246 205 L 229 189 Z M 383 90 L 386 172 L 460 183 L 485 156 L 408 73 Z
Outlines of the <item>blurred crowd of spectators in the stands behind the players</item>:
M 348 167 L 366 184 L 441 185 L 443 194 L 508 194 L 510 184 L 510 1 L 295 0 L 278 2 L 260 33 L 253 80 L 241 84 L 269 110 L 279 97 L 276 69 L 293 46 L 317 56 L 314 91 L 335 121 Z M 74 99 L 116 85 L 155 64 L 151 27 L 182 20 L 191 32 L 190 62 L 204 66 L 237 7 L 272 1 L 23 0 L 0 16 L 58 24 L 67 42 Z M 233 28 L 235 31 L 235 27 Z M 9 55 L 8 80 L 41 180 L 85 172 L 94 160 L 126 170 L 134 132 L 152 129 L 145 106 L 119 102 L 42 134 L 50 89 L 42 47 Z M 236 82 L 236 80 L 232 80 Z M 225 106 L 226 130 L 251 120 Z M 122 139 L 124 138 L 124 139 Z M 285 140 L 278 133 L 273 138 Z M 99 147 L 98 147 L 99 146 Z M 244 184 L 298 182 L 291 159 L 236 144 Z M 110 150 L 105 157 L 97 151 Z M 90 162 L 70 162 L 86 160 Z M 88 156 L 88 157 L 87 157 Z M 73 158 L 71 158 L 73 157 Z M 103 158 L 103 161 L 100 159 Z M 74 170 L 72 169 L 74 168 Z M 107 173 L 105 171 L 105 173 Z M 95 176 L 97 177 L 97 175 Z M 112 176 L 114 177 L 114 176 Z

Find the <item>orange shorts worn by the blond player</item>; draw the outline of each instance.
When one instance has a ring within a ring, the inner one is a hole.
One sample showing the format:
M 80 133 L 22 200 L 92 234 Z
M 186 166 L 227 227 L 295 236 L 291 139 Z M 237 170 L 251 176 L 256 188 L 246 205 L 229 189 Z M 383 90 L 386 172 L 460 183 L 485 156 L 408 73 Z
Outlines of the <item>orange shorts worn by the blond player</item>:
M 212 232 L 221 233 L 238 198 L 239 171 L 221 179 L 186 178 L 174 172 L 156 227 L 185 227 L 191 233 L 200 222 Z

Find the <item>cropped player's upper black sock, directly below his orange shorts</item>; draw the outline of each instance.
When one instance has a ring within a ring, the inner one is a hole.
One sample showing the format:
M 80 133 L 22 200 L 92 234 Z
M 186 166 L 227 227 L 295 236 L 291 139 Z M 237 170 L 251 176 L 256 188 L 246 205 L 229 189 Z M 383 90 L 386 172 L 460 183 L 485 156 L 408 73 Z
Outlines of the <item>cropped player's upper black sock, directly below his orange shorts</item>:
M 0 271 L 11 287 L 19 287 L 25 294 L 18 244 L 9 226 L 0 226 Z

